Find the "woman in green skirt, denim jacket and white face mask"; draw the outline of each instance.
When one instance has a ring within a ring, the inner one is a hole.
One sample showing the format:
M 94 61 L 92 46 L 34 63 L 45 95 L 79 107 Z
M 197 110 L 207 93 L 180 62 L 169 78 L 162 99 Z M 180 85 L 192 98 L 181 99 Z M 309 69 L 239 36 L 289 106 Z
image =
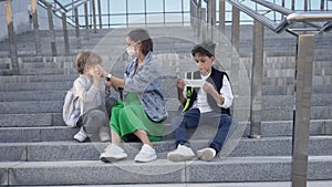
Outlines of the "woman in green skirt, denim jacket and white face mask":
M 167 111 L 163 104 L 162 69 L 153 55 L 153 41 L 146 30 L 132 30 L 126 37 L 127 53 L 134 59 L 125 69 L 124 79 L 103 70 L 113 87 L 123 89 L 123 101 L 116 101 L 111 115 L 112 144 L 100 158 L 103 162 L 124 159 L 127 154 L 121 142 L 141 141 L 143 146 L 134 160 L 147 163 L 157 159 L 152 142 L 162 139 Z

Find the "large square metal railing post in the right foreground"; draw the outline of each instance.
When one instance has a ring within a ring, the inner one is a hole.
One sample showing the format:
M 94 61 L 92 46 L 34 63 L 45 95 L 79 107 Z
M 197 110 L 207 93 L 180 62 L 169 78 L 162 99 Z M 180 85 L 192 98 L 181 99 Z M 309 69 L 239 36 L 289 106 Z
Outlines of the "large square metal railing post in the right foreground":
M 298 35 L 295 114 L 292 145 L 292 187 L 307 186 L 314 35 Z

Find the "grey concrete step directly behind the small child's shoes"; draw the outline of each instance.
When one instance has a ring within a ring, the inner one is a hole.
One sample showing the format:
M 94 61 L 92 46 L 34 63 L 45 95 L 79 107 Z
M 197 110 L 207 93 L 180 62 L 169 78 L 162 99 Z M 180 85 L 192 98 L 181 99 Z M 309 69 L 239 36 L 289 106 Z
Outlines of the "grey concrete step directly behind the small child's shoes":
M 29 116 L 25 116 L 28 118 Z M 79 132 L 79 128 L 71 128 L 64 126 L 60 121 L 62 116 L 58 116 L 58 124 L 52 124 L 55 121 L 54 115 L 46 115 L 38 120 L 33 124 L 33 117 L 38 115 L 31 115 L 30 121 L 27 123 L 19 124 L 14 126 L 14 123 L 6 124 L 1 123 L 0 128 L 0 141 L 2 143 L 23 143 L 23 142 L 52 142 L 52 141 L 72 141 L 73 135 Z M 23 120 L 21 120 L 23 121 Z M 14 121 L 15 122 L 15 121 Z M 239 122 L 235 123 L 232 129 L 236 129 L 238 137 L 248 137 L 250 134 L 249 123 Z M 193 138 L 206 139 L 209 138 L 211 134 L 215 134 L 216 126 L 203 124 L 198 128 L 188 129 L 188 134 Z M 315 136 L 332 135 L 332 121 L 331 120 L 315 120 L 311 121 L 310 134 Z M 292 122 L 291 121 L 277 121 L 277 122 L 262 122 L 261 124 L 261 135 L 262 137 L 276 137 L 276 136 L 291 136 L 292 135 Z M 164 139 L 173 139 L 173 128 L 169 123 L 165 123 Z

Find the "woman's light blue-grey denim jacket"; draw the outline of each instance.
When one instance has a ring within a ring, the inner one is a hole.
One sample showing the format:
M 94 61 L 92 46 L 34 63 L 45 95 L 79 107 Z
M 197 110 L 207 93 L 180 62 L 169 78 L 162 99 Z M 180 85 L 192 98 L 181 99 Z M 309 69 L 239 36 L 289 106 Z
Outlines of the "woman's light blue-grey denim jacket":
M 138 93 L 139 101 L 152 121 L 162 122 L 166 120 L 168 114 L 163 102 L 159 62 L 149 52 L 137 72 L 135 72 L 136 66 L 136 59 L 126 66 L 124 95 L 131 92 Z

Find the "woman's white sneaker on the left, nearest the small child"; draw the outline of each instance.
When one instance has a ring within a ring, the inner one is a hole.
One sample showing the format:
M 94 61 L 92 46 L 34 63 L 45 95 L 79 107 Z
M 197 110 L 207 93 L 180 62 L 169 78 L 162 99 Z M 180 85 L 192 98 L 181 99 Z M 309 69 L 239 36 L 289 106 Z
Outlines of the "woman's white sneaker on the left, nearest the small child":
M 104 163 L 116 162 L 126 158 L 128 155 L 120 146 L 108 144 L 104 153 L 101 154 L 100 159 Z

